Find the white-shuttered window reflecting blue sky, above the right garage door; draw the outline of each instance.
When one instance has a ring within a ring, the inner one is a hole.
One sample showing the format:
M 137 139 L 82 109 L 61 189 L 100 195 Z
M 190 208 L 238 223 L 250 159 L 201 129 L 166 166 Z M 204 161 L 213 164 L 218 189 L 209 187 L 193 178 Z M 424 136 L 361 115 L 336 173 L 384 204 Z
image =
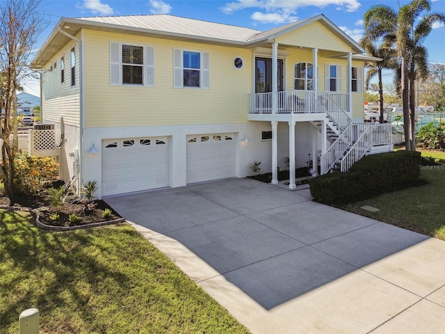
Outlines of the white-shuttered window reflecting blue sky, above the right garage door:
M 209 88 L 209 54 L 207 52 L 173 50 L 175 88 Z

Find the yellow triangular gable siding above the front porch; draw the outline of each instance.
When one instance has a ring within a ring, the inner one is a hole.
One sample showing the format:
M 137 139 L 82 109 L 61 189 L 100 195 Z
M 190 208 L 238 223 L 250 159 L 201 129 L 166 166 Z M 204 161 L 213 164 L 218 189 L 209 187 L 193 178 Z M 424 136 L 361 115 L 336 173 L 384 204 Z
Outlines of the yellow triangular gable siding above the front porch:
M 282 45 L 296 45 L 320 50 L 351 51 L 350 45 L 318 21 L 286 33 L 278 37 L 276 41 Z

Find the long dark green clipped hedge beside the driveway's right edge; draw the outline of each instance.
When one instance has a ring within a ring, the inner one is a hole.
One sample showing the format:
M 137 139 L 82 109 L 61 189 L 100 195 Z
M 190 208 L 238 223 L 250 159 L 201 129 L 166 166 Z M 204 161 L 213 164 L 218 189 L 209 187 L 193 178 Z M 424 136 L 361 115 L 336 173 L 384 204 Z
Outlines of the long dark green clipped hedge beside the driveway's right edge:
M 346 173 L 328 173 L 309 180 L 311 196 L 325 204 L 374 196 L 416 181 L 421 164 L 421 154 L 415 151 L 367 155 Z

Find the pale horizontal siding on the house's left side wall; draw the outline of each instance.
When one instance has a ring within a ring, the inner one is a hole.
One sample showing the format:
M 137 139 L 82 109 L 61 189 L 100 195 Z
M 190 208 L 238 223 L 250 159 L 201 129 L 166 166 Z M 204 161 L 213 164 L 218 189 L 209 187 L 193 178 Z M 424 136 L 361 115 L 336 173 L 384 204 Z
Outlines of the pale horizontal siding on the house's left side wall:
M 76 86 L 71 86 L 71 49 L 76 52 Z M 60 79 L 60 59 L 65 58 L 65 81 Z M 44 122 L 60 122 L 79 127 L 80 119 L 80 72 L 79 45 L 69 42 L 42 70 L 42 119 Z

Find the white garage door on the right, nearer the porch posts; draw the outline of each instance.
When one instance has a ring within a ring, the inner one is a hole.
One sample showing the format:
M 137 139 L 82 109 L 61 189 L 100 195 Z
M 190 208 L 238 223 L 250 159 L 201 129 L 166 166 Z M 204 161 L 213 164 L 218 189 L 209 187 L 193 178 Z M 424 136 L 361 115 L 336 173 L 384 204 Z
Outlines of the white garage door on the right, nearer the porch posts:
M 187 183 L 235 176 L 234 134 L 187 136 Z

